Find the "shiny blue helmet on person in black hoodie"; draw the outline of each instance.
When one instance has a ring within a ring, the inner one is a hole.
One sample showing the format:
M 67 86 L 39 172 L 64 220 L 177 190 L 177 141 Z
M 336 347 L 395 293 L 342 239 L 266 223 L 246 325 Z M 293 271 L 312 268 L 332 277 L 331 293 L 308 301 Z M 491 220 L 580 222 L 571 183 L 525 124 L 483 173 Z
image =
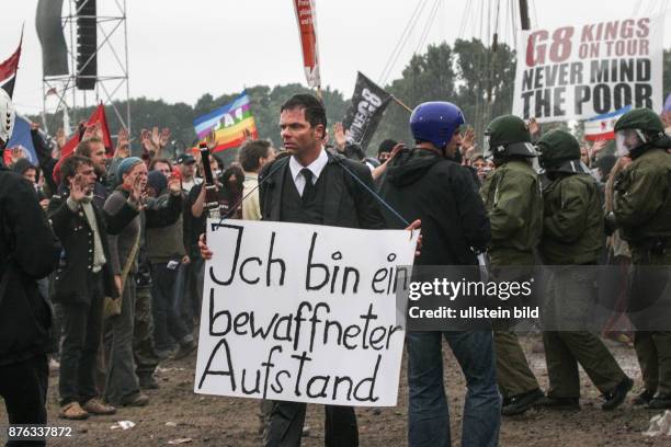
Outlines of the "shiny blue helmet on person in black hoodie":
M 439 149 L 447 146 L 456 129 L 465 123 L 462 110 L 445 101 L 421 103 L 410 115 L 414 140 L 430 141 Z

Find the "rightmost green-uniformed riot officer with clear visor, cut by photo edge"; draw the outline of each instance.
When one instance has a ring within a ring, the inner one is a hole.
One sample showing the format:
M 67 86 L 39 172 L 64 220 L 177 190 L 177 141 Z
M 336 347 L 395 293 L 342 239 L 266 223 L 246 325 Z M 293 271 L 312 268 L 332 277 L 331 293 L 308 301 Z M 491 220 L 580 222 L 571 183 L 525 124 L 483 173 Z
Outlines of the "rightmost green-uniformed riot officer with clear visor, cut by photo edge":
M 671 408 L 671 331 L 669 320 L 655 323 L 652 309 L 661 298 L 668 314 L 671 265 L 671 138 L 659 116 L 648 108 L 623 115 L 615 125 L 618 153 L 632 162 L 616 177 L 614 210 L 606 221 L 618 227 L 629 243 L 634 273 L 629 317 L 636 326 L 634 346 L 642 371 L 645 390 L 635 404 L 651 409 Z M 646 302 L 642 302 L 646 301 Z M 646 316 L 647 313 L 647 316 Z M 642 317 L 641 317 L 642 314 Z

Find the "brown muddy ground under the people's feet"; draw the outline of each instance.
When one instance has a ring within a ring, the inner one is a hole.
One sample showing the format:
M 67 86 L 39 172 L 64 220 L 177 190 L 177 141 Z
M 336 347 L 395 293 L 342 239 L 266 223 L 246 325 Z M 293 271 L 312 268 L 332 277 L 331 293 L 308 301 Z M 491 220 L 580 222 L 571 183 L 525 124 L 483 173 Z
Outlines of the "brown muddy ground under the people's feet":
M 545 359 L 533 353 L 534 339 L 524 341 L 525 351 L 543 387 L 547 386 Z M 627 375 L 640 390 L 640 371 L 633 348 L 609 344 Z M 445 349 L 445 382 L 450 401 L 453 445 L 459 445 L 460 416 L 465 383 L 456 360 Z M 113 416 L 91 417 L 71 422 L 58 419 L 57 377 L 49 379 L 48 412 L 50 425 L 71 426 L 72 437 L 52 439 L 50 446 L 166 446 L 177 439 L 190 440 L 189 446 L 258 446 L 257 400 L 203 397 L 193 392 L 195 353 L 180 362 L 166 362 L 157 371 L 161 386 L 148 391 L 151 403 L 140 409 L 121 409 Z M 357 410 L 362 446 L 403 446 L 407 433 L 408 389 L 406 371 L 401 373 L 399 404 L 396 408 Z M 633 408 L 630 400 L 614 412 L 600 409 L 598 390 L 581 371 L 583 383 L 582 409 L 579 412 L 530 411 L 519 417 L 504 419 L 501 446 L 671 446 L 671 437 L 648 438 L 641 432 L 656 412 Z M 0 409 L 0 424 L 7 416 Z M 118 421 L 133 421 L 135 427 L 111 429 Z M 304 446 L 323 445 L 323 411 L 308 408 Z

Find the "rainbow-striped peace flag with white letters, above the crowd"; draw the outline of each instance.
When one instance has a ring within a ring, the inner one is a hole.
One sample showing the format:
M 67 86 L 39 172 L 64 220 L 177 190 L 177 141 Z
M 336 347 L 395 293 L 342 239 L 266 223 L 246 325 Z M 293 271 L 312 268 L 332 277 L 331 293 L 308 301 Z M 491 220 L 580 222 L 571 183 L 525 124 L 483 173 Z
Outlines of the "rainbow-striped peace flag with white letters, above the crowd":
M 198 141 L 214 129 L 216 147 L 214 152 L 237 148 L 244 142 L 248 135 L 252 139 L 259 138 L 254 117 L 249 107 L 249 96 L 242 93 L 234 102 L 200 116 L 193 122 Z

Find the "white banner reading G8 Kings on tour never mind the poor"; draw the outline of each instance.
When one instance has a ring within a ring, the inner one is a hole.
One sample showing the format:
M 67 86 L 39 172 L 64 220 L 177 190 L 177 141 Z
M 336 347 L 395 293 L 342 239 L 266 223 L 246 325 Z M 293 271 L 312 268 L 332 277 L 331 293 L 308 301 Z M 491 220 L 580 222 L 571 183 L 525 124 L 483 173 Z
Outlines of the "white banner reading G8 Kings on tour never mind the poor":
M 520 31 L 513 115 L 589 119 L 662 110 L 663 15 Z

